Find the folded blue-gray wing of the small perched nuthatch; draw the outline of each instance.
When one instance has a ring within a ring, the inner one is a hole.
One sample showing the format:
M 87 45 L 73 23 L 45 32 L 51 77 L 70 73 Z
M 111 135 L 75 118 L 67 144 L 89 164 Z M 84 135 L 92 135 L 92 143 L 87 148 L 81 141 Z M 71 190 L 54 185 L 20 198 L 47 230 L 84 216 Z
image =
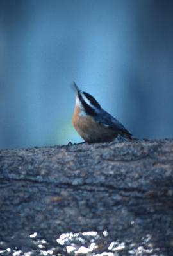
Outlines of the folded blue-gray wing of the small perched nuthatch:
M 111 114 L 104 111 L 104 109 L 100 109 L 99 113 L 97 113 L 97 116 L 94 116 L 94 118 L 97 123 L 115 129 L 117 130 L 117 133 L 121 135 L 127 134 L 131 136 L 131 133 L 129 133 L 129 131 L 122 125 L 122 123 L 120 123 L 116 118 L 111 116 Z

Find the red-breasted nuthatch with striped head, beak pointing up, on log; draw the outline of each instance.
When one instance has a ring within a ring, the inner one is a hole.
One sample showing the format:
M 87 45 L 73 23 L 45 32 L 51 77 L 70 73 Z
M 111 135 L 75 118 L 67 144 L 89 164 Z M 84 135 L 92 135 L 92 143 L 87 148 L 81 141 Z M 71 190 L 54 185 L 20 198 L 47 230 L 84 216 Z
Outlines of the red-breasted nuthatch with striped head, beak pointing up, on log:
M 131 138 L 131 134 L 116 118 L 101 108 L 89 93 L 80 91 L 76 83 L 76 107 L 72 123 L 85 142 L 110 142 L 118 134 Z

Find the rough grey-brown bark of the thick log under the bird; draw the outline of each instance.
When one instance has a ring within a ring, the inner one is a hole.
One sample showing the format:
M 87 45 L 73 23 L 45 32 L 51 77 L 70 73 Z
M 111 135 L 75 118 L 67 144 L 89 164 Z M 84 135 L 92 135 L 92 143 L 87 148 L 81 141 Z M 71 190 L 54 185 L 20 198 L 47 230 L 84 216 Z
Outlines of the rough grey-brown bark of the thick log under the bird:
M 172 256 L 173 140 L 0 151 L 0 221 L 1 255 Z

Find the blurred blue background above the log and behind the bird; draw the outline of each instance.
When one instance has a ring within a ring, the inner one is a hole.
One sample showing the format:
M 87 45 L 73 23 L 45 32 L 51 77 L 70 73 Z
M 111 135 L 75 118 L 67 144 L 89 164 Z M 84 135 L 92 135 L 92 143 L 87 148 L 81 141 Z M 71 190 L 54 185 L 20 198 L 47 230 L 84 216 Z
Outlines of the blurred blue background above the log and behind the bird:
M 83 140 L 72 81 L 138 138 L 173 137 L 173 1 L 0 0 L 0 149 Z

